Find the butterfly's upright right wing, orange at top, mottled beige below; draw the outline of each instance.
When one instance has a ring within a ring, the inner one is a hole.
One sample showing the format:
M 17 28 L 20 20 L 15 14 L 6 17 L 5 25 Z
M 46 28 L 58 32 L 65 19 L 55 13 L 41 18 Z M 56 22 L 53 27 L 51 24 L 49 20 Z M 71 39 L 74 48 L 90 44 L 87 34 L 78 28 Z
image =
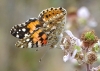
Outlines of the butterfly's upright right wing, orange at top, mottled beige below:
M 59 42 L 59 36 L 64 29 L 66 10 L 62 7 L 51 7 L 43 10 L 38 17 L 46 28 L 44 31 L 48 34 L 48 44 L 54 47 Z

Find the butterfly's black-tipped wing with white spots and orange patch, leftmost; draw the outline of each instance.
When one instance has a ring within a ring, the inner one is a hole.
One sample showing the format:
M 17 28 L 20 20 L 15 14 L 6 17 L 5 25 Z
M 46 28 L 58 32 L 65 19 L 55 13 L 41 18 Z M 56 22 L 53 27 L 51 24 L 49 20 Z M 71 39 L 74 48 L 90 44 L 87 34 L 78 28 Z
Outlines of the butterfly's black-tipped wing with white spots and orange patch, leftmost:
M 29 36 L 30 33 L 33 33 L 34 30 L 41 27 L 41 24 L 38 19 L 30 18 L 28 21 L 22 24 L 15 25 L 10 30 L 10 33 L 19 39 L 23 39 Z

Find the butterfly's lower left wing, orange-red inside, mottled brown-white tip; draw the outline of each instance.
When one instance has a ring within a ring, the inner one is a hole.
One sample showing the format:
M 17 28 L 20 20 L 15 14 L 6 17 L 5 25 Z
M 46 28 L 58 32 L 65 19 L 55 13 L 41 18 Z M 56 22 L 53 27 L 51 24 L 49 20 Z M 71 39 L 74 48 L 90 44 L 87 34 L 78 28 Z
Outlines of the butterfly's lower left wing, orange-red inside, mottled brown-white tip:
M 16 46 L 19 48 L 33 48 L 41 47 L 47 44 L 47 35 L 41 30 L 38 29 L 32 33 L 29 37 L 20 39 Z

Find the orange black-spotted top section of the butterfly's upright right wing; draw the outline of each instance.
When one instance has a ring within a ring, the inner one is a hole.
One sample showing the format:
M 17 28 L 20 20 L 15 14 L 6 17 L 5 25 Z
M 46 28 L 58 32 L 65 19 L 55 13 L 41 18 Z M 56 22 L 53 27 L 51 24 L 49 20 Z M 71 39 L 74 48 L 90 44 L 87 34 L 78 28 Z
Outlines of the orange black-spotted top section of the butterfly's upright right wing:
M 43 21 L 43 22 L 52 22 L 52 21 L 59 21 L 60 19 L 62 20 L 63 17 L 66 15 L 66 10 L 62 7 L 58 7 L 58 8 L 48 8 L 43 10 L 40 14 L 39 14 L 39 20 Z M 59 19 L 59 20 L 58 20 Z

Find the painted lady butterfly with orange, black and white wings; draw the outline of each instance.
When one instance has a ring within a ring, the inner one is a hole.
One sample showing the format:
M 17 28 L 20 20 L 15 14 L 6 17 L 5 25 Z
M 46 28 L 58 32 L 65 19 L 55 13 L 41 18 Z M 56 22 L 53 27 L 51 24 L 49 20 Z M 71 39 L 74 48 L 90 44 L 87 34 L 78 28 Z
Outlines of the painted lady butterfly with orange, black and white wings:
M 18 38 L 15 46 L 19 48 L 54 47 L 64 29 L 66 10 L 62 7 L 43 10 L 38 18 L 30 18 L 12 27 L 10 33 Z

